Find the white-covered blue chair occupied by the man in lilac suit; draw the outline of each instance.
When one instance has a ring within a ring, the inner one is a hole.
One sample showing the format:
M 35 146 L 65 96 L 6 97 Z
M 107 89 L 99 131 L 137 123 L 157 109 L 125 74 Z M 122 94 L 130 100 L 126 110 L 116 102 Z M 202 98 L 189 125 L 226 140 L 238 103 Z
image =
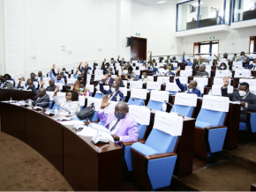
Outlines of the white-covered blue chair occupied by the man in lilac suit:
M 150 122 L 150 109 L 147 107 L 139 107 L 139 106 L 129 106 L 129 114 L 138 124 L 138 141 L 145 143 L 145 133 L 147 130 L 147 126 Z M 123 162 L 124 166 L 127 168 L 129 172 L 132 172 L 132 155 L 131 155 L 131 145 L 135 142 L 124 143 L 122 145 L 124 149 Z

